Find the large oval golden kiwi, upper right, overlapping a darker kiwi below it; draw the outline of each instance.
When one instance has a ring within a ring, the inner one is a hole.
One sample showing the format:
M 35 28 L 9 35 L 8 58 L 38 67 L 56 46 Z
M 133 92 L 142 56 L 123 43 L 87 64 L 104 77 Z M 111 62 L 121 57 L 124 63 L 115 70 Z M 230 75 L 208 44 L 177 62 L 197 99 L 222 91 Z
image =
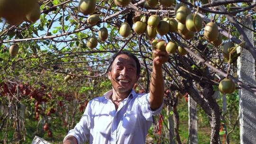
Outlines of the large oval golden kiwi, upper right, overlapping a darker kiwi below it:
M 214 22 L 206 24 L 203 36 L 210 42 L 215 41 L 219 36 L 218 26 Z

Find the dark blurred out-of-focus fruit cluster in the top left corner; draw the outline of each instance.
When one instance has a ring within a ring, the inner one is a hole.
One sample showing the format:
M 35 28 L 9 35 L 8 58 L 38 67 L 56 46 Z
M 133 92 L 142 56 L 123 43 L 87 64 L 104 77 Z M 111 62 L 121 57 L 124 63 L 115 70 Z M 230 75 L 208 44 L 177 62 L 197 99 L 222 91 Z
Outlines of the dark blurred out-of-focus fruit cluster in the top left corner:
M 10 25 L 19 25 L 23 21 L 34 23 L 40 15 L 37 0 L 0 0 L 0 17 Z

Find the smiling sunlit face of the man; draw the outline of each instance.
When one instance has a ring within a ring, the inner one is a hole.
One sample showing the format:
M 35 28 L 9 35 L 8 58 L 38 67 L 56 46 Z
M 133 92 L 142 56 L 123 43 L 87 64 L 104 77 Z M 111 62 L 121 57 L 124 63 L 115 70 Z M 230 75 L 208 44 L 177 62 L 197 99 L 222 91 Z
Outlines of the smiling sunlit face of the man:
M 117 92 L 130 92 L 139 78 L 135 60 L 126 54 L 118 55 L 112 63 L 108 77 Z

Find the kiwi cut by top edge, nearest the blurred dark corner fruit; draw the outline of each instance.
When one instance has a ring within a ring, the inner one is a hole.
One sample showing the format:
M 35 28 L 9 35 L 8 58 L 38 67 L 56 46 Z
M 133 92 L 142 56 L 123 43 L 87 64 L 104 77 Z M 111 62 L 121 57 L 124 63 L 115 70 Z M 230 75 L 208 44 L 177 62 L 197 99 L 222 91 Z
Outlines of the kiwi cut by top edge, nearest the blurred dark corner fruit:
M 84 15 L 89 15 L 95 11 L 96 0 L 80 0 L 78 9 Z

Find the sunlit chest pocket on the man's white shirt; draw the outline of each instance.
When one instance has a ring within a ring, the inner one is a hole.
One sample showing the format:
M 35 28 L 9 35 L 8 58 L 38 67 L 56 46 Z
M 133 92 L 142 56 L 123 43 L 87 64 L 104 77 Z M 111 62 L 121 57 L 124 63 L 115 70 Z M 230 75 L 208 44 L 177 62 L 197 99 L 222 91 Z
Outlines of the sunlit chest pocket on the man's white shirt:
M 130 135 L 134 133 L 137 126 L 137 113 L 136 111 L 128 111 L 122 117 L 122 133 L 123 135 Z

